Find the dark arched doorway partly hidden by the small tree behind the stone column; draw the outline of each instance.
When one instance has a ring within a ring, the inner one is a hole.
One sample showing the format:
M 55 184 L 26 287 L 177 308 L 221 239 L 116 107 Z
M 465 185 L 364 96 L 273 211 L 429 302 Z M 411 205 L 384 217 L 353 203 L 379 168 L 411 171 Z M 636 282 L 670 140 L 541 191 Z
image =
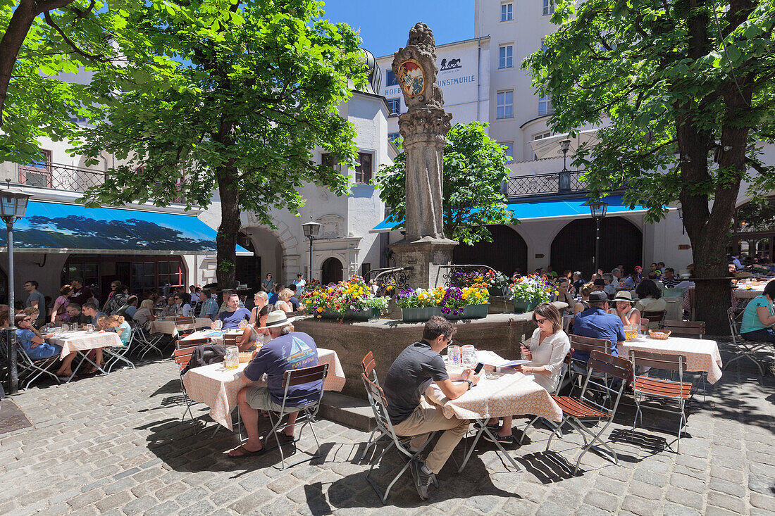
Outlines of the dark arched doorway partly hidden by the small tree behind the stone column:
M 452 252 L 453 263 L 488 265 L 507 276 L 511 276 L 517 268 L 525 273 L 528 266 L 528 245 L 522 236 L 507 225 L 489 225 L 487 229 L 492 234 L 492 242 L 456 246 Z

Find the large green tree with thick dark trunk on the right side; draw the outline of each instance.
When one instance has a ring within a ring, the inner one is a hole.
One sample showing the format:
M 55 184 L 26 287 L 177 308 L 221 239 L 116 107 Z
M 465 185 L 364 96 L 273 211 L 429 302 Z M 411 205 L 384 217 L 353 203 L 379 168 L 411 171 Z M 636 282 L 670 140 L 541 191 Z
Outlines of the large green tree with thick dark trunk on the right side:
M 574 164 L 593 195 L 627 184 L 655 222 L 680 202 L 698 278 L 727 275 L 739 189 L 775 187 L 756 144 L 775 137 L 775 3 L 771 0 L 559 0 L 556 33 L 525 60 L 552 95 L 555 132 L 601 127 Z M 610 122 L 610 123 L 608 123 Z M 726 332 L 729 283 L 698 281 L 697 317 Z

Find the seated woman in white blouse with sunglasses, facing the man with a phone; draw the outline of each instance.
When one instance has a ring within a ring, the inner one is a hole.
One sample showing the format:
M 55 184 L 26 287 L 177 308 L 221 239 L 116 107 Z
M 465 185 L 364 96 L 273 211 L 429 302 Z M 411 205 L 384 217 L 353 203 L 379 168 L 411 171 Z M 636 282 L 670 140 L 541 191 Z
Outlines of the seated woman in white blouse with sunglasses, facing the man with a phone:
M 517 366 L 520 373 L 532 374 L 533 380 L 549 393 L 554 393 L 560 384 L 560 374 L 563 372 L 565 356 L 570 351 L 570 339 L 563 332 L 563 318 L 551 303 L 541 303 L 533 311 L 533 321 L 538 328 L 533 331 L 529 348 L 522 346 L 522 353 L 529 363 Z M 498 424 L 493 418 L 487 422 L 491 428 Z M 512 416 L 503 418 L 503 425 L 494 434 L 498 442 L 511 444 L 514 441 L 512 435 Z M 484 439 L 490 439 L 484 434 Z

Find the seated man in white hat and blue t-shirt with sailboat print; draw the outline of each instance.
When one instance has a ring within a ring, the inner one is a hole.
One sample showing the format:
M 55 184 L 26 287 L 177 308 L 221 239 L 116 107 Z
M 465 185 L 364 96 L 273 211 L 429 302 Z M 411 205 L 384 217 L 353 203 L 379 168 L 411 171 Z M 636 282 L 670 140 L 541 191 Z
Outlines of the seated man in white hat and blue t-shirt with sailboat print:
M 266 328 L 271 340 L 253 354 L 243 374 L 248 380 L 257 381 L 264 373 L 267 375 L 267 387 L 243 387 L 237 394 L 239 415 L 242 416 L 247 432 L 245 444 L 232 449 L 229 457 L 239 458 L 261 455 L 266 452 L 258 432 L 258 411 L 281 412 L 284 389 L 283 373 L 303 367 L 318 365 L 318 348 L 315 341 L 306 333 L 293 332 L 291 322 L 284 311 L 276 310 L 267 316 Z M 288 407 L 303 408 L 318 401 L 320 382 L 288 387 Z M 293 441 L 294 423 L 298 411 L 288 414 L 288 425 L 278 434 L 280 442 Z

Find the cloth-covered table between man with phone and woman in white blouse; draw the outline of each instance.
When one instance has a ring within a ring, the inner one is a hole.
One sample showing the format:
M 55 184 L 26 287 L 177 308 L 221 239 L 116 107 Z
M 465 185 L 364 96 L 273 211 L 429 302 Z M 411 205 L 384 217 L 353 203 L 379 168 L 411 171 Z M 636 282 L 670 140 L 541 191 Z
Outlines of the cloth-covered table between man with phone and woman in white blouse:
M 477 352 L 483 353 L 483 352 Z M 488 353 L 488 352 L 484 352 Z M 491 353 L 498 359 L 497 355 Z M 450 377 L 454 377 L 454 371 L 449 371 Z M 458 473 L 468 463 L 471 454 L 476 448 L 477 442 L 483 433 L 487 433 L 492 442 L 503 452 L 516 470 L 521 471 L 514 459 L 508 455 L 498 439 L 495 439 L 490 429 L 487 428 L 487 420 L 490 418 L 503 418 L 514 415 L 533 415 L 541 416 L 552 421 L 562 421 L 563 411 L 552 399 L 546 389 L 536 384 L 532 380 L 532 374 L 508 373 L 503 374 L 496 380 L 488 380 L 482 373 L 479 382 L 463 396 L 449 400 L 444 396 L 439 386 L 435 383 L 430 384 L 425 390 L 425 396 L 433 403 L 439 405 L 446 418 L 473 419 L 479 424 L 479 430 L 474 437 L 471 449 L 468 451 L 463 464 L 460 465 Z

